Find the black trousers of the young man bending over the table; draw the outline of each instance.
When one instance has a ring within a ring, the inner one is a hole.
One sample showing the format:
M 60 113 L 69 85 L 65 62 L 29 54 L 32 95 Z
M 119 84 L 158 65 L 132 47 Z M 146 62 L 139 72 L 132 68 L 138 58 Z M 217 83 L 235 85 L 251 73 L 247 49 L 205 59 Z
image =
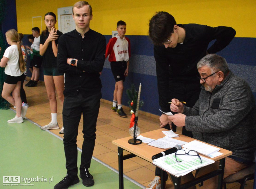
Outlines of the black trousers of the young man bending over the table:
M 196 101 L 199 98 L 199 94 L 201 91 L 201 84 L 200 82 L 187 82 L 187 81 L 169 81 L 169 89 L 170 94 L 169 98 L 170 101 L 173 98 L 176 98 L 180 101 L 185 101 L 186 106 L 192 108 Z M 172 112 L 174 114 L 174 112 Z M 164 128 L 170 130 L 169 124 L 166 125 Z M 176 132 L 177 126 L 172 124 L 173 131 Z M 182 127 L 182 134 L 193 137 L 193 134 L 191 131 L 187 131 L 185 127 Z M 161 169 L 156 167 L 155 175 L 161 176 Z M 162 179 L 162 178 L 161 178 Z M 166 181 L 168 179 L 167 173 L 164 171 L 164 180 Z

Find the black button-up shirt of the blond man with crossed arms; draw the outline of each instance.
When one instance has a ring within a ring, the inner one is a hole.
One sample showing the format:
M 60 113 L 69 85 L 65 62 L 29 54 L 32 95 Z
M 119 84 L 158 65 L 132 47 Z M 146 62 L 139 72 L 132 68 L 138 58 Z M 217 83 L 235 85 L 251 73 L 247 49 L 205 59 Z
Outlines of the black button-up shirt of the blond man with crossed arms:
M 57 68 L 60 73 L 65 73 L 64 95 L 77 96 L 80 92 L 86 97 L 100 92 L 99 72 L 103 69 L 105 51 L 105 37 L 91 29 L 84 34 L 84 38 L 77 30 L 59 38 Z M 67 64 L 67 58 L 77 59 L 77 67 Z

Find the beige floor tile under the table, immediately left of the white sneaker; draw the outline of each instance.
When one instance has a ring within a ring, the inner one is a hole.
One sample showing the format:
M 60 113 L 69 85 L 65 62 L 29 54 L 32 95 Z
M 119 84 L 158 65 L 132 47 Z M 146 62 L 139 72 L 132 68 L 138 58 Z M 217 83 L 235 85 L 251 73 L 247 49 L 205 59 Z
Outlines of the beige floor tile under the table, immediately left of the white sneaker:
M 151 171 L 145 167 L 135 169 L 133 171 L 125 173 L 125 175 L 136 180 L 138 183 L 146 183 L 152 180 L 155 177 L 155 172 Z

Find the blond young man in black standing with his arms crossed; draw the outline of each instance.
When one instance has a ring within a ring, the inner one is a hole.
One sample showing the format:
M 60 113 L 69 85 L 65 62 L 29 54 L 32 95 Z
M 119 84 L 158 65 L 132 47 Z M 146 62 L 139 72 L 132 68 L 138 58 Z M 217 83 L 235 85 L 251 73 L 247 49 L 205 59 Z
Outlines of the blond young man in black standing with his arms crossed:
M 102 88 L 99 72 L 105 61 L 106 40 L 102 34 L 90 29 L 92 8 L 88 2 L 77 2 L 72 10 L 76 29 L 60 37 L 57 55 L 58 70 L 66 74 L 62 114 L 67 175 L 55 189 L 68 188 L 79 182 L 76 138 L 81 114 L 84 141 L 80 178 L 84 186 L 94 184 L 88 169 L 96 138 Z

